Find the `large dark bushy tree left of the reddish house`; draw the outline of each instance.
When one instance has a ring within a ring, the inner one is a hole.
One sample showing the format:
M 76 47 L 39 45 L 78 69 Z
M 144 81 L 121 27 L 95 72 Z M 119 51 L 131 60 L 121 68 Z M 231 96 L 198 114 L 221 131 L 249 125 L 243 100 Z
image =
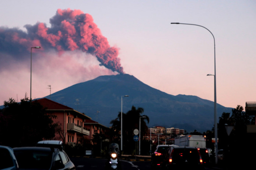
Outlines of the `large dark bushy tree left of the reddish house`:
M 55 136 L 55 115 L 46 114 L 36 101 L 22 99 L 20 103 L 10 98 L 0 109 L 0 145 L 22 147 Z

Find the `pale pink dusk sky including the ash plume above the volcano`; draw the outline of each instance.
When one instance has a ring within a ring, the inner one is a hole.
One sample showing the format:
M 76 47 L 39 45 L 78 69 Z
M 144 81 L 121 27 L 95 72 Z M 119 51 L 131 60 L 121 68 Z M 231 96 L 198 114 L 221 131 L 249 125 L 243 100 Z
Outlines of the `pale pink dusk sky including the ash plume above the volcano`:
M 0 105 L 127 73 L 178 95 L 256 101 L 255 0 L 1 0 Z M 200 26 L 171 24 L 190 23 Z M 31 47 L 41 46 L 40 49 Z M 51 89 L 49 89 L 49 86 Z M 126 92 L 124 92 L 126 95 Z

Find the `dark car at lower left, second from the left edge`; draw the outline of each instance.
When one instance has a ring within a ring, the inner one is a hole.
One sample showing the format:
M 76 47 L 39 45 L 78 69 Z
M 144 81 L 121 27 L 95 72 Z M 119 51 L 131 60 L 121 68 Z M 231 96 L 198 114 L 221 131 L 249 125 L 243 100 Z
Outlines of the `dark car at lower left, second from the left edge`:
M 42 145 L 41 145 L 42 146 Z M 76 170 L 66 152 L 55 147 L 20 147 L 13 148 L 19 169 L 33 170 Z

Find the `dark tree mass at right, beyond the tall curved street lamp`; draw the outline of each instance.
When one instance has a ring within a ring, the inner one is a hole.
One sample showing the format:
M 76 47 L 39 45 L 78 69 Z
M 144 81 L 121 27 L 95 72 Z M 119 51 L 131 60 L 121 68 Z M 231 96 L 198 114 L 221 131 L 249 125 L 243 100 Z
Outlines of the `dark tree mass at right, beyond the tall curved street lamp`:
M 252 153 L 253 146 L 249 146 L 247 135 L 247 125 L 252 123 L 252 117 L 243 111 L 243 107 L 238 105 L 230 113 L 222 113 L 218 123 L 218 149 L 224 149 L 224 163 L 228 165 L 233 162 L 247 162 L 248 155 Z M 230 134 L 226 128 L 231 127 Z M 243 145 L 243 147 L 239 147 Z M 248 149 L 249 148 L 249 149 Z M 249 151 L 249 153 L 248 153 Z M 246 163 L 244 163 L 246 164 Z

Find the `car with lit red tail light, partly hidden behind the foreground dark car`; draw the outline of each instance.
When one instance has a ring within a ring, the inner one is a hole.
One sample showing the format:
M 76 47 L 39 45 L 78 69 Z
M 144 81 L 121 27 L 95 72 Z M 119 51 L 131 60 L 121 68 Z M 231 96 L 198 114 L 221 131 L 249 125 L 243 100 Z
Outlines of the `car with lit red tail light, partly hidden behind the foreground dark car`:
M 175 147 L 176 145 L 157 145 L 155 152 L 151 155 L 151 169 L 159 169 L 162 167 L 163 156 L 170 147 Z

